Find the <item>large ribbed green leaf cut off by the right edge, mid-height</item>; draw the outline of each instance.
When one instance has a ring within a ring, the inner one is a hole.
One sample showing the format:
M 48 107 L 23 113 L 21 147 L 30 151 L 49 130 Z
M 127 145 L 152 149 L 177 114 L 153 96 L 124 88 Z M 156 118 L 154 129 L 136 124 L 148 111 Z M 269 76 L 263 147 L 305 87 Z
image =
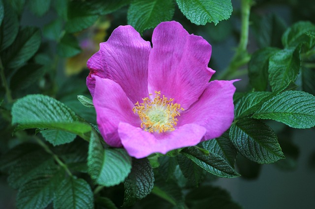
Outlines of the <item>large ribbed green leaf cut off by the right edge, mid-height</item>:
M 284 91 L 265 102 L 252 118 L 273 119 L 293 128 L 315 126 L 315 96 L 303 91 Z

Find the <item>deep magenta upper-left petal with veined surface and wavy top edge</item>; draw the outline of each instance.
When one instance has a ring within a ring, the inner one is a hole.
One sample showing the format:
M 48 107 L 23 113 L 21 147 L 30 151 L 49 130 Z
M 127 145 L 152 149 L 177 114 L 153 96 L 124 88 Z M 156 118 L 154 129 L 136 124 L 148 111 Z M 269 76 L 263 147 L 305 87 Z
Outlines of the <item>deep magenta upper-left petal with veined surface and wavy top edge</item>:
M 118 83 L 132 103 L 148 95 L 148 61 L 151 51 L 149 41 L 141 38 L 131 26 L 120 26 L 108 41 L 99 44 L 100 49 L 88 60 L 90 75 L 87 86 L 93 96 L 93 75 Z

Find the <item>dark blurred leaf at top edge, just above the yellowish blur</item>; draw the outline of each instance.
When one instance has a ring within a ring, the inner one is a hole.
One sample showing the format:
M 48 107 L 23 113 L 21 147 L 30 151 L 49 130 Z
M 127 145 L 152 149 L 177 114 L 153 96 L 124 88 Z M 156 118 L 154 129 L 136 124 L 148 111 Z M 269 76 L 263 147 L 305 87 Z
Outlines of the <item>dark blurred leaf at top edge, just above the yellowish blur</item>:
M 85 1 L 70 1 L 64 29 L 69 33 L 78 32 L 92 26 L 97 18 L 98 15 Z

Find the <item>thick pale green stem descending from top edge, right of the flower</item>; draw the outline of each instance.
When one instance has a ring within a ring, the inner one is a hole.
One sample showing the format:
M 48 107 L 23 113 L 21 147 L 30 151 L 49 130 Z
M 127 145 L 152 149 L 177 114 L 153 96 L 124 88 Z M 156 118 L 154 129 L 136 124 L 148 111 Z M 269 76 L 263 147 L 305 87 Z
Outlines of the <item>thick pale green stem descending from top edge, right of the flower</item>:
M 251 6 L 252 0 L 241 1 L 242 28 L 240 42 L 229 66 L 222 72 L 218 80 L 231 79 L 237 74 L 238 68 L 248 63 L 251 59 L 247 52 Z

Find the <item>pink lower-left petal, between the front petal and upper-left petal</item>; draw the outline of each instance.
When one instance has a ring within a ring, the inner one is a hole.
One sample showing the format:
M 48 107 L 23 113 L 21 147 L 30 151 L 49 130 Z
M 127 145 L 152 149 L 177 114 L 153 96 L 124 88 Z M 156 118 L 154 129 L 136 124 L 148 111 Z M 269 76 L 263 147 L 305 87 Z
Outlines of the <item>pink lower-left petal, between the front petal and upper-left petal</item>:
M 141 121 L 134 114 L 133 103 L 128 99 L 122 88 L 110 79 L 94 76 L 95 93 L 93 103 L 100 133 L 105 142 L 112 147 L 121 147 L 118 125 L 121 121 L 139 126 Z

